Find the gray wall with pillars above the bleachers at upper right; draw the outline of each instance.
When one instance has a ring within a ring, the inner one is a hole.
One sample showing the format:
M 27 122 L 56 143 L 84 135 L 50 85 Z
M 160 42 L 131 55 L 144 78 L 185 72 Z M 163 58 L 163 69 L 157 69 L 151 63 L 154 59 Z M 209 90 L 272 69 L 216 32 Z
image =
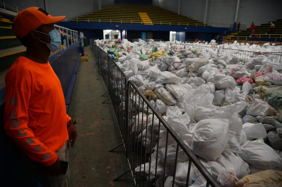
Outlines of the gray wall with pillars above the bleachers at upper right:
M 158 5 L 177 12 L 179 0 L 158 0 Z M 206 0 L 180 0 L 180 14 L 204 21 Z M 153 0 L 153 5 L 157 5 L 157 0 Z M 233 25 L 235 21 L 237 0 L 209 0 L 206 23 L 221 23 Z M 282 18 L 281 0 L 240 0 L 238 19 L 241 21 L 241 29 L 251 25 L 268 23 Z M 225 26 L 226 26 L 225 25 Z

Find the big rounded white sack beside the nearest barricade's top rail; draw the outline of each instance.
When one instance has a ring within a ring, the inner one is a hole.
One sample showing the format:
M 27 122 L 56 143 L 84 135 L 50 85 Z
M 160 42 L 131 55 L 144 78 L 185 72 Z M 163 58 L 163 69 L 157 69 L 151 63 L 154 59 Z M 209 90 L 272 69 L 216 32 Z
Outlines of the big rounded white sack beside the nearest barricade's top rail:
M 228 119 L 203 119 L 194 128 L 191 149 L 194 154 L 215 161 L 228 144 Z

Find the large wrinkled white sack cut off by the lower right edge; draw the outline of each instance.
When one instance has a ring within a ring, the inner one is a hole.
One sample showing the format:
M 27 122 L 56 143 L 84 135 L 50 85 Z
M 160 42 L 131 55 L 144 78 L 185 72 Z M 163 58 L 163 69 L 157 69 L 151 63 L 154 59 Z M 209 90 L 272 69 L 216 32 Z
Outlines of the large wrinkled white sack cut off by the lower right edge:
M 282 169 L 282 158 L 262 139 L 246 141 L 241 145 L 242 153 L 239 156 L 248 164 L 255 165 L 258 169 Z

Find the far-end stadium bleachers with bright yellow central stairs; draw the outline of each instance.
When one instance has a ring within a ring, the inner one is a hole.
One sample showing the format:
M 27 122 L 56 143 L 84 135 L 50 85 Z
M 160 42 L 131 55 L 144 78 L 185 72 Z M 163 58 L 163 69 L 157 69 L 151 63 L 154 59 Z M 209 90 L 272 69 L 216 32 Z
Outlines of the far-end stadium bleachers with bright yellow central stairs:
M 144 25 L 209 26 L 203 22 L 153 5 L 113 4 L 71 19 L 75 22 L 134 23 Z

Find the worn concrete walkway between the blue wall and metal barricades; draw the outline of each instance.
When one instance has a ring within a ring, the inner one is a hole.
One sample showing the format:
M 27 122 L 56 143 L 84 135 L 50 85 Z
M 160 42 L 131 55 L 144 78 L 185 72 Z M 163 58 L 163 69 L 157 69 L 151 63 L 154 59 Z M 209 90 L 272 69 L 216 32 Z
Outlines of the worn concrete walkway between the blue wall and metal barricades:
M 80 62 L 70 104 L 69 115 L 76 119 L 78 137 L 69 150 L 70 187 L 127 187 L 134 186 L 131 177 L 115 177 L 128 170 L 125 152 L 108 152 L 122 142 L 102 78 L 96 80 L 97 67 L 90 46 L 88 62 Z

